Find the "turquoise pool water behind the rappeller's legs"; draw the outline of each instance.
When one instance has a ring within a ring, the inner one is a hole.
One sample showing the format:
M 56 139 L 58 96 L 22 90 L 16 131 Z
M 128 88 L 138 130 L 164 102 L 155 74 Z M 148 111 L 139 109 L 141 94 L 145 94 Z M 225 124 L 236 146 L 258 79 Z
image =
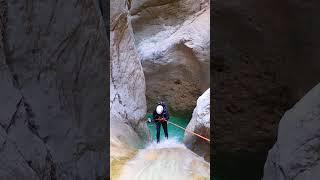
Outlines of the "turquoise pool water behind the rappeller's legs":
M 151 118 L 152 119 L 152 114 L 147 114 L 147 118 Z M 184 128 L 187 127 L 188 123 L 189 123 L 189 119 L 184 119 L 184 118 L 179 118 L 179 117 L 173 117 L 170 116 L 169 119 L 170 122 L 173 122 L 179 126 L 182 126 Z M 150 130 L 151 133 L 151 137 L 153 141 L 157 140 L 157 130 L 156 130 L 156 124 L 155 123 L 148 123 L 148 128 Z M 177 139 L 178 142 L 182 142 L 183 141 L 183 137 L 184 137 L 184 130 L 181 128 L 178 128 L 170 123 L 168 123 L 168 135 L 169 138 L 175 138 Z M 164 131 L 163 128 L 161 126 L 160 129 L 160 141 L 163 140 L 163 138 L 165 138 L 164 136 Z

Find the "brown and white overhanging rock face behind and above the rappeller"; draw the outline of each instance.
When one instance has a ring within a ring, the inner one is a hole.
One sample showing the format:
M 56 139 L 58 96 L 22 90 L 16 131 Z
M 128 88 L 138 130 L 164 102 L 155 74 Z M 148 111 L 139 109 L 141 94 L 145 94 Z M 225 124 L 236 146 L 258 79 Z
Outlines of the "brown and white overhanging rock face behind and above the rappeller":
M 148 111 L 164 100 L 171 112 L 191 113 L 209 87 L 209 2 L 137 1 L 130 13 Z

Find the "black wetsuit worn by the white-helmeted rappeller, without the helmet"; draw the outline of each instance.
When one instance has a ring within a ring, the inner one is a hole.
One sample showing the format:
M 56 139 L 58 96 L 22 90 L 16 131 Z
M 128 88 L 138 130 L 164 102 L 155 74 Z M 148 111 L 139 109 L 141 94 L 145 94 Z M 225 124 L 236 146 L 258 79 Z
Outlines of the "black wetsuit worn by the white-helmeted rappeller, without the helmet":
M 153 111 L 153 120 L 156 122 L 157 127 L 157 143 L 160 142 L 160 127 L 162 125 L 164 135 L 168 139 L 168 128 L 167 128 L 167 121 L 158 121 L 159 118 L 165 118 L 166 120 L 169 120 L 169 113 L 167 111 L 167 108 L 165 105 L 163 106 L 163 112 L 161 114 L 158 114 L 156 110 Z

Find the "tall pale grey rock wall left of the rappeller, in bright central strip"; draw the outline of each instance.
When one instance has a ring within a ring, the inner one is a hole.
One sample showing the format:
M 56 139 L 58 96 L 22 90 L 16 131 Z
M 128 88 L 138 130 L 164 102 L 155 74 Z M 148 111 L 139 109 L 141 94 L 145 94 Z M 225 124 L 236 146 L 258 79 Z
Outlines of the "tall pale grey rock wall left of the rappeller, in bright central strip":
M 137 145 L 146 128 L 141 121 L 146 114 L 146 98 L 144 74 L 129 18 L 131 4 L 126 0 L 113 0 L 110 7 L 111 135 Z

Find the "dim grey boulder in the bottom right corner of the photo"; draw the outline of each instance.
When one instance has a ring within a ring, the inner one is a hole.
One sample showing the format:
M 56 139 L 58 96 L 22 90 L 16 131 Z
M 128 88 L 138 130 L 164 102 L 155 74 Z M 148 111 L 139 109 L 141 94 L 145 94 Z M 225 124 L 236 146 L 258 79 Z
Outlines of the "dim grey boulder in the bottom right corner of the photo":
M 282 117 L 269 151 L 263 180 L 316 180 L 320 177 L 320 84 Z

